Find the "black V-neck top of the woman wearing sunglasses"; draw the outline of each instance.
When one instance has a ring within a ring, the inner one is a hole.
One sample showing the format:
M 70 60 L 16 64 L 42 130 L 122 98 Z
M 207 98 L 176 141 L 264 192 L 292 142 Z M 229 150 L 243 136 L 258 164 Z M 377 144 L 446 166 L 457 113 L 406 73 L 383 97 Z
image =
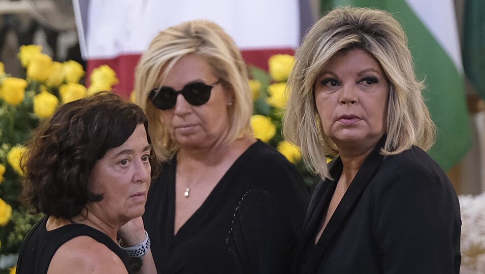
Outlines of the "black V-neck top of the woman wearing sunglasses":
M 152 183 L 143 215 L 160 273 L 237 273 L 226 239 L 234 211 L 250 189 L 273 194 L 295 232 L 301 232 L 308 192 L 295 166 L 261 141 L 234 162 L 174 236 L 175 174 L 173 160 Z

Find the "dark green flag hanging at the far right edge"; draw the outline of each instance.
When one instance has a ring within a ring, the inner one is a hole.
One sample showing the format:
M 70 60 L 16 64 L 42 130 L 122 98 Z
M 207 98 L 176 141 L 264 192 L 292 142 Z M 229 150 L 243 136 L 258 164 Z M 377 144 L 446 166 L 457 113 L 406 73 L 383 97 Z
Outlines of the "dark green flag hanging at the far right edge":
M 465 1 L 463 16 L 463 66 L 465 75 L 485 99 L 485 1 Z

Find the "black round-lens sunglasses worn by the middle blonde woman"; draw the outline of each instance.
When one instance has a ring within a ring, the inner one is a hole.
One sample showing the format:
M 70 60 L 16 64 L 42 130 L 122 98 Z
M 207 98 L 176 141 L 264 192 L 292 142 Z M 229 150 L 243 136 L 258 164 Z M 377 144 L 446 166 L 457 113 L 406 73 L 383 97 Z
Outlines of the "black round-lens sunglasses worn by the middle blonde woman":
M 175 107 L 178 94 L 182 93 L 190 105 L 202 106 L 209 100 L 212 88 L 219 83 L 220 80 L 212 85 L 207 85 L 203 82 L 189 83 L 182 90 L 178 91 L 166 86 L 154 88 L 148 93 L 148 99 L 156 108 L 170 110 Z

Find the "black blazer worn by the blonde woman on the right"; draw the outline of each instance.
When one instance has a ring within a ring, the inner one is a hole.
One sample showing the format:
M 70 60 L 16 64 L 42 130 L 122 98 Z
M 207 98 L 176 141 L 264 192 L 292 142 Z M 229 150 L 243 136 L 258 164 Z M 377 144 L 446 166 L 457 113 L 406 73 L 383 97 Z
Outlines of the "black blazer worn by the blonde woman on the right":
M 315 245 L 342 172 L 315 185 L 297 248 L 298 273 L 459 273 L 460 207 L 443 170 L 426 152 L 369 154 Z

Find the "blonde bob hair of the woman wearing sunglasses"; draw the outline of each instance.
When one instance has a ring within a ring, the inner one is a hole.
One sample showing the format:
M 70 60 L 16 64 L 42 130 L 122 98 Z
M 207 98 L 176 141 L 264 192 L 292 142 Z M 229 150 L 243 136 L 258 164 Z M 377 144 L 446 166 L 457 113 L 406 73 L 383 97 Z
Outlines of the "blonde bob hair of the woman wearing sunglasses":
M 135 72 L 135 100 L 146 112 L 153 148 L 159 160 L 169 160 L 178 150 L 148 93 L 165 81 L 174 64 L 183 56 L 205 57 L 212 73 L 232 93 L 228 107 L 231 128 L 224 143 L 251 134 L 252 98 L 247 68 L 233 39 L 216 23 L 193 20 L 162 30 L 142 54 Z

